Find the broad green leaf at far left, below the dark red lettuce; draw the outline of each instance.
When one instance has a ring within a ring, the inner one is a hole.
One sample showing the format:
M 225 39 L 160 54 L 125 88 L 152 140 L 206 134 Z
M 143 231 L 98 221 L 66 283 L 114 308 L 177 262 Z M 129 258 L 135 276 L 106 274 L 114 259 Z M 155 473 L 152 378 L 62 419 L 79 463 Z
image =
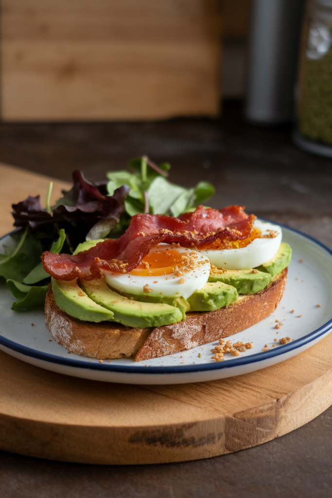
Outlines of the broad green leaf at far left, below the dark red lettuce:
M 40 241 L 30 233 L 24 234 L 22 230 L 14 232 L 9 236 L 9 241 L 3 244 L 5 252 L 0 254 L 0 275 L 5 279 L 23 282 L 24 277 L 40 261 Z

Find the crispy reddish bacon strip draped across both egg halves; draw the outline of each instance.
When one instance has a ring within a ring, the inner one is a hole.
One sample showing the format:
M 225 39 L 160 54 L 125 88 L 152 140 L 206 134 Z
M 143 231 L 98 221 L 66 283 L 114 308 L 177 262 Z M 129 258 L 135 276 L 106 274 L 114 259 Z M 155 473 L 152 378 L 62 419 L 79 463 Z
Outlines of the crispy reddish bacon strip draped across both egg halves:
M 179 243 L 200 247 L 221 240 L 241 240 L 250 235 L 254 215 L 243 206 L 229 206 L 217 211 L 199 206 L 193 213 L 179 218 L 167 215 L 135 215 L 119 239 L 106 239 L 94 248 L 76 255 L 44 252 L 44 269 L 58 280 L 100 278 L 101 270 L 128 273 L 160 243 Z

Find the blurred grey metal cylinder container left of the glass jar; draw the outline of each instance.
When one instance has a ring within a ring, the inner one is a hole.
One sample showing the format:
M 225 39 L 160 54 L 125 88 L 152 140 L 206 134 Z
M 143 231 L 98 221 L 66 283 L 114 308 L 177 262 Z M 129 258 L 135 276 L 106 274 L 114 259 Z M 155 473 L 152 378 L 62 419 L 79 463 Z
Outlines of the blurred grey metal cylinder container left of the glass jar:
M 245 117 L 261 124 L 293 118 L 304 0 L 253 0 Z

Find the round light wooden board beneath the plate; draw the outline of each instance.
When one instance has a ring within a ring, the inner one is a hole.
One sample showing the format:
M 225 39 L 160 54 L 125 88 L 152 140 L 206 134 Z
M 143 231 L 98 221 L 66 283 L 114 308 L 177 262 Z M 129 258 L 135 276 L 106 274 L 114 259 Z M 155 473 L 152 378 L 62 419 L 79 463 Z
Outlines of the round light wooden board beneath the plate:
M 256 446 L 332 404 L 332 334 L 238 377 L 135 386 L 69 377 L 0 351 L 0 448 L 91 464 L 208 458 Z

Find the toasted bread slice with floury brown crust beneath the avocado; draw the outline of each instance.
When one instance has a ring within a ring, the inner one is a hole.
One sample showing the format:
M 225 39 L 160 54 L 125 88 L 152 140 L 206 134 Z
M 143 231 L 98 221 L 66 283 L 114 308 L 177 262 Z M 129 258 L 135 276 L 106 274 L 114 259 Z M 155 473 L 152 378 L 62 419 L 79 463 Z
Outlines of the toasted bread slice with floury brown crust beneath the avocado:
M 45 302 L 46 327 L 58 344 L 78 355 L 98 359 L 134 356 L 136 362 L 157 358 L 228 337 L 268 317 L 283 296 L 287 272 L 285 268 L 265 289 L 241 295 L 224 308 L 189 312 L 184 322 L 154 329 L 73 318 L 58 307 L 50 287 Z

